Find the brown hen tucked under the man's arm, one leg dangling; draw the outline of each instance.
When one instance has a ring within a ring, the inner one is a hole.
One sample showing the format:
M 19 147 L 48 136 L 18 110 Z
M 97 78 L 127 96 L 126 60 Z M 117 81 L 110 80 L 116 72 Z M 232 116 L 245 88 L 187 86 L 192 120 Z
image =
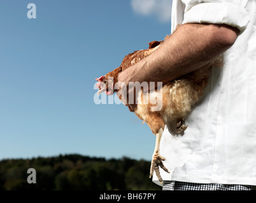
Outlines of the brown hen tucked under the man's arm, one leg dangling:
M 153 51 L 159 48 L 163 42 L 164 41 L 153 41 L 152 43 L 148 43 L 150 45 L 148 49 L 130 53 L 125 56 L 120 67 L 97 78 L 96 80 L 98 82 L 96 86 L 99 88 L 98 95 L 103 93 L 103 91 L 106 95 L 112 95 L 114 92 L 117 92 L 118 89 L 114 87 L 118 82 L 118 74 L 153 53 Z M 162 157 L 159 152 L 160 139 L 164 128 L 166 125 L 174 125 L 178 133 L 187 129 L 188 125 L 185 126 L 185 118 L 203 95 L 203 89 L 207 84 L 213 64 L 220 67 L 222 65 L 222 57 L 220 56 L 214 62 L 211 62 L 190 74 L 179 77 L 174 81 L 167 82 L 160 89 L 155 89 L 149 92 L 140 90 L 138 93 L 138 104 L 134 113 L 139 119 L 146 122 L 153 134 L 156 135 L 155 150 L 152 155 L 152 163 L 150 167 L 150 178 L 153 175 L 153 171 L 155 171 L 160 183 L 162 183 L 162 178 L 160 176 L 159 166 L 169 173 L 168 169 L 162 163 L 162 161 L 166 159 Z M 119 98 L 122 100 L 122 95 L 119 95 Z M 156 108 L 159 103 L 161 104 L 161 108 Z

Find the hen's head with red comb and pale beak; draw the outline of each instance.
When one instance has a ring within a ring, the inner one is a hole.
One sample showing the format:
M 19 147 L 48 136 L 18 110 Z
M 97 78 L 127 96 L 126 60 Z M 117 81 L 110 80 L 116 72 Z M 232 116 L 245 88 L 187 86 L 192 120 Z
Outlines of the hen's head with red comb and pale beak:
M 101 95 L 101 93 L 106 93 L 106 95 L 113 95 L 114 94 L 114 82 L 113 80 L 107 79 L 104 76 L 101 76 L 99 78 L 96 78 L 96 87 L 99 88 L 98 95 Z

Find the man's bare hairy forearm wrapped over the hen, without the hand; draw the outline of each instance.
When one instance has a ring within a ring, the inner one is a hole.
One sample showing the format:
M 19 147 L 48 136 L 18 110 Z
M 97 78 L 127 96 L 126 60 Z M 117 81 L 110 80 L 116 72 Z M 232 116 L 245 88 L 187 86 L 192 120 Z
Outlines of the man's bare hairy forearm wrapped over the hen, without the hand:
M 168 82 L 214 60 L 236 41 L 237 30 L 227 25 L 185 24 L 118 81 Z

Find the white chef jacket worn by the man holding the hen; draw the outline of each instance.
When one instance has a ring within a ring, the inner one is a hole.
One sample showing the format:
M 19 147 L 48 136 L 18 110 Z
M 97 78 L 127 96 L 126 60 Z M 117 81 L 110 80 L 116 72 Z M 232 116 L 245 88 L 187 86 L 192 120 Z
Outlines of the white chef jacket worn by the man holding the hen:
M 181 23 L 225 23 L 241 30 L 213 68 L 183 135 L 164 129 L 163 180 L 256 185 L 256 1 L 173 0 L 172 31 Z M 157 177 L 153 176 L 153 181 Z

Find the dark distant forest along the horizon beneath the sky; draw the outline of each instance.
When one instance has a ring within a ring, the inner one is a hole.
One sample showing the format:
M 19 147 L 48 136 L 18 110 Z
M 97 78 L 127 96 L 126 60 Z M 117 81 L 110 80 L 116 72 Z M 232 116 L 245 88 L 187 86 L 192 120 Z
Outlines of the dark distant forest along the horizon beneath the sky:
M 27 183 L 27 169 L 36 183 Z M 0 161 L 0 190 L 161 190 L 148 178 L 150 162 L 78 154 Z

